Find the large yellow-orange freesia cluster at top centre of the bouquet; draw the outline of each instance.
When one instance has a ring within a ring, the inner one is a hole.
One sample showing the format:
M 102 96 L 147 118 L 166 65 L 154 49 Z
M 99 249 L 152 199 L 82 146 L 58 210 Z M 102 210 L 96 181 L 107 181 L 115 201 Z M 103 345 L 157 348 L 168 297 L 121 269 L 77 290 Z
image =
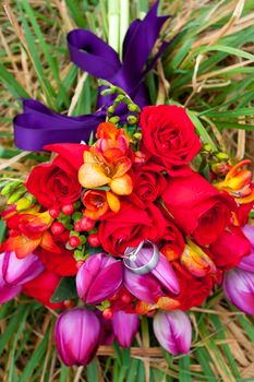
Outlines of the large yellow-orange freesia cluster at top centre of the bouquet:
M 96 145 L 84 152 L 84 165 L 78 171 L 80 183 L 86 189 L 108 184 L 116 194 L 129 195 L 133 184 L 126 174 L 132 167 L 132 160 L 126 156 L 128 138 L 122 129 L 110 122 L 98 127 Z

